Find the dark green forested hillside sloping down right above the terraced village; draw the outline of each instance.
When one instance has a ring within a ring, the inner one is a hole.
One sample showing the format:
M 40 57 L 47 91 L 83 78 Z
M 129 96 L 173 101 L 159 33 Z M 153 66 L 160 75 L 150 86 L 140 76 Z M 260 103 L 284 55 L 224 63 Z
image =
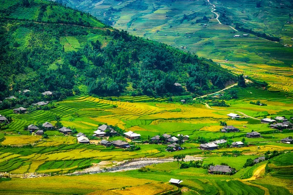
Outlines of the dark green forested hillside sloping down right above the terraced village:
M 211 60 L 130 36 L 56 2 L 0 3 L 0 100 L 14 95 L 15 104 L 30 104 L 44 91 L 58 99 L 78 93 L 201 95 L 237 80 Z M 24 89 L 30 94 L 19 93 Z

